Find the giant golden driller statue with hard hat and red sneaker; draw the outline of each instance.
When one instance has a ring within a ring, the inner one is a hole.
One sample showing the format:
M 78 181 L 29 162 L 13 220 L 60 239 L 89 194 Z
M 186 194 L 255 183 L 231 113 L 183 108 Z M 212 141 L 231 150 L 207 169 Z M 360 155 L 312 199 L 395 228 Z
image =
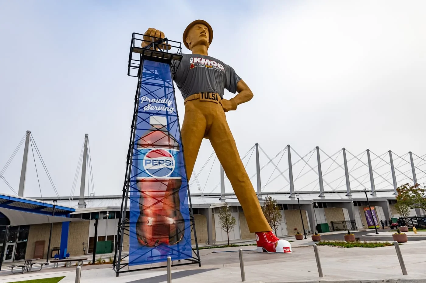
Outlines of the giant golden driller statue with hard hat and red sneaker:
M 149 28 L 144 34 L 142 47 L 152 42 L 151 37 L 164 38 L 164 33 Z M 234 69 L 210 57 L 207 50 L 213 40 L 213 29 L 204 20 L 195 20 L 184 31 L 184 45 L 192 54 L 182 54 L 173 80 L 185 99 L 182 125 L 182 145 L 188 180 L 203 138 L 209 139 L 219 158 L 233 190 L 244 210 L 250 232 L 256 233 L 258 252 L 291 252 L 288 241 L 278 239 L 266 221 L 256 192 L 236 148 L 235 140 L 226 121 L 225 112 L 253 98 L 253 93 Z M 161 45 L 161 48 L 167 48 Z M 224 99 L 224 89 L 238 94 Z

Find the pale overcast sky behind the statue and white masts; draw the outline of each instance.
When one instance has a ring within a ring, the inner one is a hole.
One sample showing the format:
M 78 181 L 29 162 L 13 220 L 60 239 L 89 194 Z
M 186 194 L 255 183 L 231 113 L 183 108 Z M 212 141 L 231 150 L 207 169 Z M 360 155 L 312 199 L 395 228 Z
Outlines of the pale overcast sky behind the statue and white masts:
M 0 169 L 31 130 L 55 187 L 68 196 L 87 133 L 95 194 L 121 194 L 137 84 L 127 76 L 132 32 L 153 27 L 181 41 L 196 19 L 213 27 L 209 55 L 231 65 L 254 93 L 227 113 L 241 156 L 256 142 L 270 157 L 287 144 L 302 156 L 316 146 L 330 156 L 342 147 L 354 155 L 369 148 L 379 156 L 388 150 L 423 156 L 425 14 L 423 0 L 164 0 L 161 5 L 0 0 Z M 176 97 L 183 114 L 178 91 Z M 225 98 L 231 97 L 225 91 Z M 196 172 L 212 152 L 204 140 Z M 15 191 L 22 154 L 23 147 L 4 173 Z M 288 167 L 286 154 L 282 171 Z M 267 162 L 262 155 L 261 166 Z M 342 163 L 341 154 L 338 158 Z M 210 173 L 213 159 L 199 177 L 204 192 L 219 190 L 214 189 L 217 160 Z M 367 162 L 366 155 L 362 160 Z M 36 162 L 42 195 L 54 196 Z M 249 163 L 251 176 L 254 156 Z M 316 164 L 316 155 L 309 163 Z M 266 169 L 262 184 L 277 174 Z M 301 169 L 294 170 L 295 178 Z M 426 168 L 421 170 L 420 176 Z M 280 182 L 284 187 L 284 179 Z M 279 188 L 274 186 L 266 190 Z M 78 190 L 79 181 L 75 195 Z M 3 181 L 0 192 L 12 193 Z M 31 152 L 24 195 L 40 196 Z

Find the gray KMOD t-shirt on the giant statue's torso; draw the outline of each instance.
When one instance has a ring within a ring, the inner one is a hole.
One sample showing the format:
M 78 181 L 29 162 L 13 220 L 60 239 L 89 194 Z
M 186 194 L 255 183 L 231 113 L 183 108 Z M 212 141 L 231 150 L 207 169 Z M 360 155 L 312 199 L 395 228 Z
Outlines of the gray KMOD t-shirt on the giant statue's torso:
M 232 67 L 210 56 L 199 54 L 182 54 L 182 56 L 173 80 L 184 99 L 199 92 L 219 93 L 223 98 L 225 88 L 230 93 L 236 93 L 237 83 L 241 78 Z

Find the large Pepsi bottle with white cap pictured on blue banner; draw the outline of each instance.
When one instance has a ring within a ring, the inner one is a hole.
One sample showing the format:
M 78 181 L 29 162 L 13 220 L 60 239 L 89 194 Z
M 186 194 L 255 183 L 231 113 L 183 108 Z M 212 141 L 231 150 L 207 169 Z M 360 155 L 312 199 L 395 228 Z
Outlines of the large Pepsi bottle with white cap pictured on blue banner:
M 179 144 L 167 131 L 164 116 L 150 117 L 150 130 L 137 141 L 140 215 L 136 223 L 138 242 L 154 247 L 174 245 L 184 236 L 180 212 L 181 175 L 177 155 Z

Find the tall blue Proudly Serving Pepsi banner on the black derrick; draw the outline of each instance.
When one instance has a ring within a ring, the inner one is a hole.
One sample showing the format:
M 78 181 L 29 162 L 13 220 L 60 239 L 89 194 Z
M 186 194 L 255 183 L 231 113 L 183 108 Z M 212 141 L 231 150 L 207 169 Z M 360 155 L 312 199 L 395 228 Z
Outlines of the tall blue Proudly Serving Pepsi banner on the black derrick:
M 187 178 L 168 64 L 143 61 L 137 103 L 129 265 L 191 258 Z

